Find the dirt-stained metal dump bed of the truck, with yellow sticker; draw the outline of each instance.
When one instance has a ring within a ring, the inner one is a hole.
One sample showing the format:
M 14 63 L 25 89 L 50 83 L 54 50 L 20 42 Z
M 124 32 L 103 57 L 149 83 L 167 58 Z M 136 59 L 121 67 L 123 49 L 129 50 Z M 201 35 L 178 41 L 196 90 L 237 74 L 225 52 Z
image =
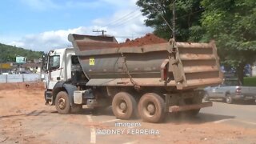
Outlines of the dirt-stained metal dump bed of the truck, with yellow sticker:
M 222 72 L 214 42 L 169 42 L 152 35 L 118 44 L 114 37 L 70 34 L 86 86 L 214 86 Z

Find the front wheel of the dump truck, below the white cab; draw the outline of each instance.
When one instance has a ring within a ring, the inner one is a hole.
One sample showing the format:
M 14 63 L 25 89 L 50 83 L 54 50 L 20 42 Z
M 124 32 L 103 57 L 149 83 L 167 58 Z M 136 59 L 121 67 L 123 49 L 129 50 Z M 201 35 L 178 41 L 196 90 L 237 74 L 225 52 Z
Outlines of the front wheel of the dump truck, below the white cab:
M 65 91 L 58 92 L 55 98 L 55 107 L 59 114 L 70 113 L 70 99 Z

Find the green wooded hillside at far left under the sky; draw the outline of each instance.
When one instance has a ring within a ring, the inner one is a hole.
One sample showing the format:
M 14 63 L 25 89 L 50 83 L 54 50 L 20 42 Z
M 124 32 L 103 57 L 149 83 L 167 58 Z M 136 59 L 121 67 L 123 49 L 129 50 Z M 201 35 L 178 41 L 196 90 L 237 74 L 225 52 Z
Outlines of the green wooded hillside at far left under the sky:
M 27 61 L 33 61 L 34 58 L 42 58 L 42 54 L 43 52 L 40 51 L 26 50 L 0 43 L 0 62 L 15 62 L 16 56 L 26 57 Z

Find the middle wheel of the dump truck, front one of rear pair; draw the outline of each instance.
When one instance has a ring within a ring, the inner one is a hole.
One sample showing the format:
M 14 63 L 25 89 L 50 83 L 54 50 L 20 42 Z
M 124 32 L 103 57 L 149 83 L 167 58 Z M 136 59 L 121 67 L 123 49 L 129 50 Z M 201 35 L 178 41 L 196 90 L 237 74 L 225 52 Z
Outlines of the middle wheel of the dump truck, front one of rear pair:
M 114 96 L 112 110 L 116 118 L 129 119 L 137 111 L 137 102 L 130 94 L 120 92 Z

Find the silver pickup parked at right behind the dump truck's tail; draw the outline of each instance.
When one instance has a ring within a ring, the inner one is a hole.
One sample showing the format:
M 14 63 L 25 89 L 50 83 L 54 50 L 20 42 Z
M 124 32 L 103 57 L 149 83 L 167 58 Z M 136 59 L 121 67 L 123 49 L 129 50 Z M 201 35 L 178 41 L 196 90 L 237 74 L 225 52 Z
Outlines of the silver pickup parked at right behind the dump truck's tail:
M 226 103 L 233 103 L 235 100 L 255 102 L 255 86 L 239 86 L 237 78 L 226 79 L 222 85 L 205 88 L 205 100 L 222 98 Z

